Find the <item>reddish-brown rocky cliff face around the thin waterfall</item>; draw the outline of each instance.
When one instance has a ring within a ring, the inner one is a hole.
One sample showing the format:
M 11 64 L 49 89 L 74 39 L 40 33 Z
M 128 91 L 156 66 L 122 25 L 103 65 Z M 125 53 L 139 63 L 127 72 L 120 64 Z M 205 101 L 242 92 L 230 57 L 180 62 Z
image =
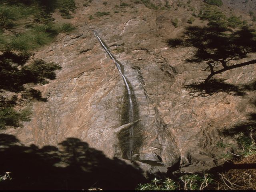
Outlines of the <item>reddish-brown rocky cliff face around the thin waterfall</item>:
M 185 8 L 152 10 L 142 4 L 115 7 L 119 3 L 113 0 L 104 5 L 93 0 L 90 6 L 82 6 L 77 1 L 78 10 L 71 20 L 77 30 L 59 35 L 34 56 L 62 66 L 56 80 L 37 87 L 43 96 L 49 95 L 48 102 L 34 103 L 32 120 L 6 133 L 15 134 L 23 144 L 38 146 L 57 146 L 65 138 L 79 138 L 110 158 L 124 158 L 129 128 L 125 126 L 126 88 L 94 30 L 123 64 L 133 89 L 139 119 L 134 124 L 134 160 L 151 173 L 166 172 L 174 164 L 184 172 L 194 172 L 221 163 L 224 152 L 216 143 L 228 138 L 218 130 L 244 119 L 252 110 L 248 100 L 255 95 L 220 92 L 202 97 L 200 92 L 191 93 L 185 85 L 201 82 L 209 72 L 203 70 L 204 64 L 184 61 L 192 50 L 172 50 L 163 42 L 180 34 L 191 13 Z M 110 15 L 98 18 L 97 11 Z M 89 20 L 90 15 L 94 19 Z M 174 17 L 179 18 L 178 28 L 171 24 Z M 255 66 L 216 78 L 247 84 L 255 79 Z

